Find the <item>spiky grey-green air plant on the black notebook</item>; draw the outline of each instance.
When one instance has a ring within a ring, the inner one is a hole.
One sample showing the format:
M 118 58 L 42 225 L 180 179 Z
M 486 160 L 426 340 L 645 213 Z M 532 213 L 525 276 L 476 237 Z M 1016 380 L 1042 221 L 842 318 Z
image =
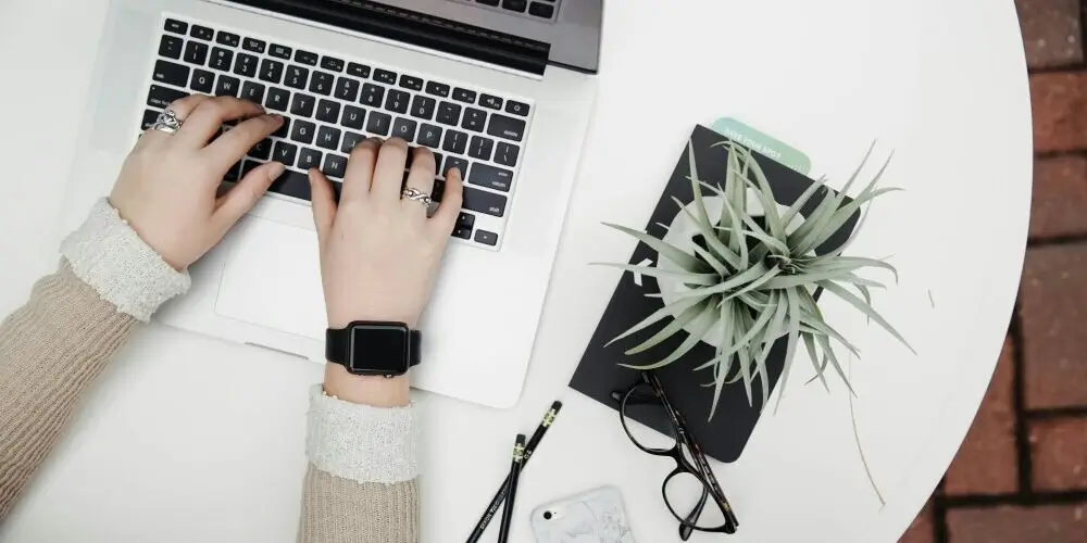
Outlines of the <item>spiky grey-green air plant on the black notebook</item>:
M 783 206 L 783 211 L 750 150 L 727 140 L 713 147 L 727 148 L 725 178 L 712 184 L 701 179 L 694 143 L 690 143 L 688 179 L 694 202 L 685 205 L 674 199 L 682 210 L 677 220 L 686 222 L 685 226 L 695 236 L 670 240 L 670 236 L 657 238 L 644 231 L 608 225 L 638 239 L 655 251 L 659 258 L 655 265 L 607 265 L 654 277 L 661 292 L 647 295 L 664 299 L 663 307 L 609 344 L 663 323 L 655 333 L 628 349 L 626 354 L 630 355 L 660 345 L 680 331 L 687 332 L 686 339 L 662 359 L 646 366 L 625 366 L 634 369 L 666 366 L 712 336 L 714 340 L 708 342 L 716 345 L 714 356 L 699 361 L 694 369 L 712 372 L 712 379 L 705 384 L 714 389 L 712 418 L 725 384 L 738 381 L 742 381 L 751 404 L 753 383 L 758 379 L 762 388 L 761 405 L 766 405 L 770 396 L 767 357 L 774 343 L 787 338 L 783 390 L 794 353 L 802 342 L 815 370 L 812 379 L 819 379 L 829 390 L 825 374 L 834 368 L 852 393 L 832 343 L 837 342 L 857 356 L 858 350 L 826 321 L 815 301 L 817 290 L 840 298 L 913 351 L 872 307 L 872 290 L 885 286 L 858 275 L 864 268 L 883 268 L 897 281 L 895 267 L 883 260 L 844 255 L 845 244 L 816 254 L 816 248 L 841 229 L 862 205 L 897 190 L 876 188 L 890 159 L 852 200 L 848 200 L 847 194 L 867 163 L 872 149 L 840 191 L 830 191 L 825 180 L 820 179 L 788 209 Z M 751 202 L 748 201 L 749 192 L 754 197 Z M 712 205 L 708 205 L 708 201 L 712 201 Z M 817 204 L 810 213 L 802 214 L 809 201 Z M 720 213 L 713 213 L 719 204 Z M 761 216 L 757 215 L 758 211 Z M 779 395 L 778 405 L 780 399 Z

